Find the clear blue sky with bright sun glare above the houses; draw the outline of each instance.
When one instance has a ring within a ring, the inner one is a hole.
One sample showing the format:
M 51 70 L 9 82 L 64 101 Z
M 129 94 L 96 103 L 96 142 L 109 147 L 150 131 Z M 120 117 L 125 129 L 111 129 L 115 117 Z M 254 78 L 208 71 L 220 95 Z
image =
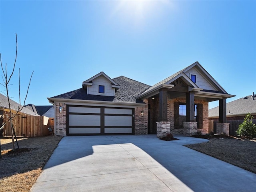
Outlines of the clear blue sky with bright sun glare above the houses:
M 50 105 L 47 97 L 101 71 L 154 85 L 196 61 L 236 95 L 227 102 L 256 93 L 256 1 L 1 0 L 9 73 L 15 33 L 10 96 L 17 102 L 18 68 L 21 98 L 34 71 L 26 104 Z

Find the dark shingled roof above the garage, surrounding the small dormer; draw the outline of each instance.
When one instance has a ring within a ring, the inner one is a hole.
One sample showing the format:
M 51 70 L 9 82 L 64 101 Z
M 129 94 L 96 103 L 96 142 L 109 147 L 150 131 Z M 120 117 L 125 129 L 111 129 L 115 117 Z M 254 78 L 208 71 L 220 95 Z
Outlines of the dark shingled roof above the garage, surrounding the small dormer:
M 91 78 L 89 80 L 91 80 Z M 87 94 L 86 89 L 80 88 L 48 99 L 51 100 L 53 98 L 61 98 L 74 100 L 143 103 L 142 100 L 138 100 L 136 99 L 136 97 L 150 87 L 149 85 L 132 80 L 124 76 L 113 78 L 111 82 L 115 82 L 115 85 L 118 85 L 120 87 L 116 91 L 115 96 L 90 95 Z

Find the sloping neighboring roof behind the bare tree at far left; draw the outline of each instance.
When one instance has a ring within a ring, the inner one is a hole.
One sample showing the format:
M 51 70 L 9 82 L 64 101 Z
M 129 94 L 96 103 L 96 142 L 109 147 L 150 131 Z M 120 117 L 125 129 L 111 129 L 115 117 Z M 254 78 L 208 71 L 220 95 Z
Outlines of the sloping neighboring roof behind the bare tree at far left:
M 20 107 L 22 107 L 22 105 L 18 104 L 17 102 L 15 102 L 12 99 L 10 99 L 10 104 L 11 104 L 11 110 L 13 112 L 16 112 Z M 0 94 L 0 109 L 2 109 L 2 108 L 4 108 L 5 111 L 7 111 L 9 109 L 8 98 L 6 96 L 4 96 L 3 94 Z M 26 107 L 23 107 L 22 110 L 19 113 L 20 114 L 28 114 L 28 115 L 37 116 L 37 114 L 35 112 L 29 110 Z

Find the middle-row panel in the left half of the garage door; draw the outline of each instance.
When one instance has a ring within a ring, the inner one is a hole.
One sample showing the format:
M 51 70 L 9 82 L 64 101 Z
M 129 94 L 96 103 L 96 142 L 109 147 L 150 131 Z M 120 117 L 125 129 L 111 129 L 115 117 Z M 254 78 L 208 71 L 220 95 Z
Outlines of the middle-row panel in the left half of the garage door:
M 100 126 L 100 115 L 69 115 L 69 126 Z

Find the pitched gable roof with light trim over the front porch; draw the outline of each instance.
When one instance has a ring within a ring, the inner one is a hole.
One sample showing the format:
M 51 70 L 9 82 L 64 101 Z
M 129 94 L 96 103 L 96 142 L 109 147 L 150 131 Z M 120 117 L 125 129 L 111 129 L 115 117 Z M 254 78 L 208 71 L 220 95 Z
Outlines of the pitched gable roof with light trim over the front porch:
M 188 71 L 191 70 L 192 68 L 194 68 L 198 72 L 200 72 L 200 74 L 202 74 L 204 76 L 204 78 L 215 88 L 215 90 L 206 90 L 204 88 L 200 88 L 199 86 L 197 86 L 197 84 L 195 84 L 190 79 L 190 77 L 187 75 Z M 142 94 L 140 94 L 138 96 L 138 98 L 145 98 L 145 97 L 152 96 L 152 95 L 156 94 L 160 88 L 169 88 L 171 90 L 171 88 L 174 87 L 174 85 L 172 85 L 171 83 L 174 82 L 175 80 L 177 80 L 178 78 L 182 78 L 182 80 L 184 80 L 186 82 L 186 84 L 188 84 L 188 86 L 190 86 L 190 88 L 192 90 L 194 90 L 196 92 L 200 92 L 200 94 L 204 94 L 204 95 L 205 94 L 211 94 L 211 95 L 218 94 L 218 95 L 222 95 L 222 96 L 226 95 L 227 98 L 234 96 L 234 95 L 228 94 L 220 86 L 220 84 L 218 84 L 218 82 L 216 82 L 216 80 L 214 80 L 214 78 L 212 78 L 212 76 L 210 76 L 210 74 L 198 62 L 195 62 L 195 63 L 191 64 L 190 66 L 176 72 L 175 74 L 169 76 L 168 78 L 151 86 L 150 88 L 148 88 L 148 90 L 146 90 Z

